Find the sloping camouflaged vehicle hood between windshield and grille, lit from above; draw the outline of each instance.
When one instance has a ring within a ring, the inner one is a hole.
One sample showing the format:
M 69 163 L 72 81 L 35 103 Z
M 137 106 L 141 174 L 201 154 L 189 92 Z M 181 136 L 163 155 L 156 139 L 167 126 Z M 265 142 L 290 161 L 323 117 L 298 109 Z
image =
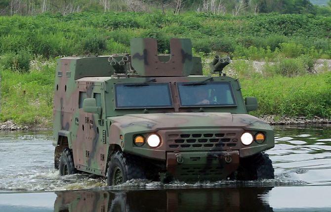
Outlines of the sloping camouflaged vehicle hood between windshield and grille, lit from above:
M 183 128 L 218 128 L 240 127 L 245 129 L 272 128 L 264 121 L 248 114 L 231 113 L 153 113 L 130 114 L 120 117 L 110 117 L 112 125 L 121 130 L 134 128 L 134 131 L 156 131 L 159 129 Z

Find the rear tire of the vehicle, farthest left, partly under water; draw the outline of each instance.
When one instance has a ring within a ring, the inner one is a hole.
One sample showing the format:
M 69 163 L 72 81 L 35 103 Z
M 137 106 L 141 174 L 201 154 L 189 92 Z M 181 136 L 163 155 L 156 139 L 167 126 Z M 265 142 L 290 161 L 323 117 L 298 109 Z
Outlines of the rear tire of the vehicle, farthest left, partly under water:
M 77 173 L 74 164 L 73 151 L 71 149 L 65 148 L 62 151 L 60 157 L 59 171 L 60 175 Z

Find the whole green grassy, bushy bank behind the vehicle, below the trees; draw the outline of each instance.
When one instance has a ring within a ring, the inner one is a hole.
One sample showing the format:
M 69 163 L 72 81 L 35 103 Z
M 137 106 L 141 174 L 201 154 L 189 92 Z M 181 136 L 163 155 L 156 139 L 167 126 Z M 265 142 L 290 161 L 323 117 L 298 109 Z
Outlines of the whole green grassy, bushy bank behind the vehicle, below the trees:
M 331 58 L 330 31 L 331 17 L 309 14 L 85 12 L 63 16 L 48 12 L 0 16 L 0 121 L 49 126 L 54 58 L 130 53 L 130 39 L 136 37 L 156 38 L 160 53 L 169 53 L 170 38 L 189 38 L 194 55 L 203 61 L 215 54 L 229 54 L 236 60 L 225 70 L 234 70 L 233 76 L 242 80 L 245 96 L 258 98 L 255 115 L 328 117 L 330 74 L 308 73 L 316 59 Z M 262 73 L 252 70 L 252 60 L 266 62 Z

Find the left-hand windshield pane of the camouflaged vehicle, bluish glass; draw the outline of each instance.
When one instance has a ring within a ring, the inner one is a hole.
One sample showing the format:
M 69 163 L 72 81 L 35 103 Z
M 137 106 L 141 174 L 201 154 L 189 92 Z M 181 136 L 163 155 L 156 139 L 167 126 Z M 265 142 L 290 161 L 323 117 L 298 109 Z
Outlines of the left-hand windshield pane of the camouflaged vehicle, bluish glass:
M 117 108 L 172 107 L 166 83 L 116 84 L 115 93 Z

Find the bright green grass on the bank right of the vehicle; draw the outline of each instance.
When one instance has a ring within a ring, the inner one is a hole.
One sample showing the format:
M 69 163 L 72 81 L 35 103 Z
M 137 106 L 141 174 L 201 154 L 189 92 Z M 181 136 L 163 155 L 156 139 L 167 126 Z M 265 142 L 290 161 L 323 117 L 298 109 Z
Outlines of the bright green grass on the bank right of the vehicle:
M 274 76 L 241 81 L 244 96 L 254 96 L 259 109 L 253 115 L 330 117 L 331 73 L 294 78 Z

